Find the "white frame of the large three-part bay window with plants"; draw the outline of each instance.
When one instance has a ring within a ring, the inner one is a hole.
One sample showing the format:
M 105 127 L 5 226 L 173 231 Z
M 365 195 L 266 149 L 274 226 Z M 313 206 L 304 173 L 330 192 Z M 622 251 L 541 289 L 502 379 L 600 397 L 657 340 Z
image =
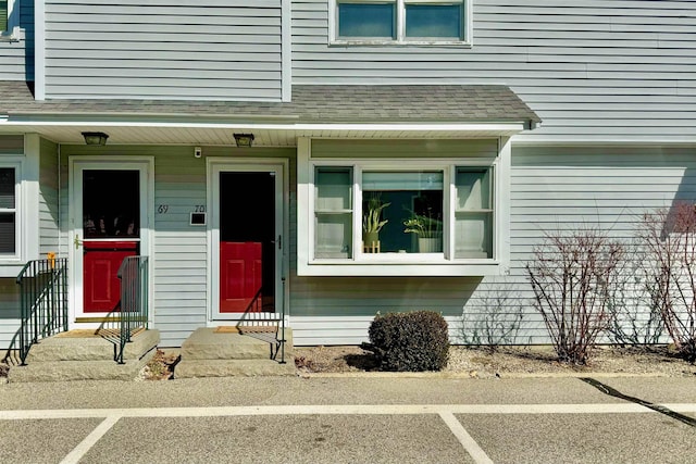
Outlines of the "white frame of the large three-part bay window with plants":
M 298 275 L 316 276 L 484 276 L 509 269 L 509 146 L 495 160 L 461 159 L 320 159 L 311 156 L 311 143 L 298 143 Z M 314 175 L 318 166 L 352 167 L 351 258 L 315 258 Z M 458 167 L 493 170 L 493 258 L 455 258 L 455 174 Z M 362 171 L 442 171 L 443 252 L 364 253 L 362 250 Z

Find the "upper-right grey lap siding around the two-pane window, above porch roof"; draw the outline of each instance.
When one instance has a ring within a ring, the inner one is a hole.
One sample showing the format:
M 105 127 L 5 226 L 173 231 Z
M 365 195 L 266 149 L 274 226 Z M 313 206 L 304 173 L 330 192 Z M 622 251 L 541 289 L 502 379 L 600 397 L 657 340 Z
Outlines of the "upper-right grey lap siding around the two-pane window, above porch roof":
M 527 138 L 694 140 L 696 3 L 473 0 L 473 47 L 330 47 L 326 0 L 293 2 L 295 84 L 506 84 Z

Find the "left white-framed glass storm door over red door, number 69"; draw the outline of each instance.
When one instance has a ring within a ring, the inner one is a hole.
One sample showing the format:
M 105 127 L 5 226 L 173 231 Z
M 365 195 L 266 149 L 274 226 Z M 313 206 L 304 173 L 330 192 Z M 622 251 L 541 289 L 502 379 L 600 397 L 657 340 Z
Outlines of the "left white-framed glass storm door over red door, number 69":
M 75 316 L 104 316 L 120 309 L 121 263 L 147 250 L 148 164 L 76 161 L 72 174 Z

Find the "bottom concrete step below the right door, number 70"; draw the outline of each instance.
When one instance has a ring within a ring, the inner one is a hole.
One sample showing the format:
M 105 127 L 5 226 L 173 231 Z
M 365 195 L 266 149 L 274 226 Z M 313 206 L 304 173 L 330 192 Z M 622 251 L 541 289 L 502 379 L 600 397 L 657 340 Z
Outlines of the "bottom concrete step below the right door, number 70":
M 297 375 L 295 362 L 286 358 L 281 364 L 273 360 L 186 360 L 174 369 L 174 378 L 194 377 L 257 377 Z

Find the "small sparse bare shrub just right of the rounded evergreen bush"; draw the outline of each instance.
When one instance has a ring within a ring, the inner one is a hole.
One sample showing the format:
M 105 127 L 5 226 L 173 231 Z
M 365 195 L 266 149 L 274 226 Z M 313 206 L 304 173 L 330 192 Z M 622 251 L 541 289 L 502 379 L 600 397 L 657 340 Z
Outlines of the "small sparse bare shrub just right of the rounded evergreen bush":
M 501 344 L 519 344 L 524 319 L 520 290 L 510 283 L 485 284 L 480 297 L 461 316 L 460 337 L 464 344 L 486 346 L 490 351 Z

